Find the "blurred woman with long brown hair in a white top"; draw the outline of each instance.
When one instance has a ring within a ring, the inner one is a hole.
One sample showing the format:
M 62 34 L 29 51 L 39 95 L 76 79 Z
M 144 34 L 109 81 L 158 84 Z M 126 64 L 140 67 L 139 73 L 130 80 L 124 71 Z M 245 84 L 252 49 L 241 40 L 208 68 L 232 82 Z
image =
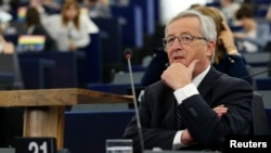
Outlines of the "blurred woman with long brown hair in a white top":
M 65 2 L 61 15 L 52 15 L 43 22 L 60 51 L 83 50 L 90 43 L 90 30 L 99 28 L 86 15 L 80 15 L 76 1 Z

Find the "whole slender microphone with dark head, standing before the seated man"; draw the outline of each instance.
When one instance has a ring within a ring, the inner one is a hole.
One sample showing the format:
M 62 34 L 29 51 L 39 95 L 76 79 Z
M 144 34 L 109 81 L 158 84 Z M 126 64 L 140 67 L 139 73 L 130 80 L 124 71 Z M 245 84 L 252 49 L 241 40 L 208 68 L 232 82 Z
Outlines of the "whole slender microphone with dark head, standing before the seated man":
M 142 129 L 141 129 L 141 124 L 140 124 L 139 106 L 138 106 L 138 102 L 136 100 L 136 90 L 134 90 L 132 68 L 131 68 L 132 50 L 125 49 L 124 55 L 128 62 L 128 69 L 129 69 L 129 76 L 130 76 L 130 82 L 131 82 L 131 91 L 132 91 L 133 105 L 134 105 L 134 112 L 136 112 L 136 118 L 137 118 L 137 126 L 138 126 L 138 130 L 139 130 L 139 141 L 140 141 L 140 145 L 141 145 L 141 153 L 143 153 L 144 152 L 144 141 L 143 141 Z

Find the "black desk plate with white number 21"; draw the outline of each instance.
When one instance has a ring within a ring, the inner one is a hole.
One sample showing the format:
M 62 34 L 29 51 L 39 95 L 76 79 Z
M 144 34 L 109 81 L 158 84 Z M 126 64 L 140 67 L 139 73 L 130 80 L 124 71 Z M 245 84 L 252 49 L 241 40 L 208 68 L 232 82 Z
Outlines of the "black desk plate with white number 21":
M 15 153 L 56 153 L 55 138 L 16 138 Z

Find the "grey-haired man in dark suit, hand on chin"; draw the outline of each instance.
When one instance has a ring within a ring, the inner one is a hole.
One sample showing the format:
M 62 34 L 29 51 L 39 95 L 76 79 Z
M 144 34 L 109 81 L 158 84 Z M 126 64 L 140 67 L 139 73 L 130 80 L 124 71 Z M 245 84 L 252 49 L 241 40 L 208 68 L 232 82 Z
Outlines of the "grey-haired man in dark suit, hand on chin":
M 146 87 L 139 107 L 144 149 L 220 150 L 227 135 L 248 135 L 253 89 L 216 71 L 214 21 L 196 11 L 173 17 L 165 30 L 170 65 L 162 80 Z M 136 117 L 124 138 L 140 152 Z

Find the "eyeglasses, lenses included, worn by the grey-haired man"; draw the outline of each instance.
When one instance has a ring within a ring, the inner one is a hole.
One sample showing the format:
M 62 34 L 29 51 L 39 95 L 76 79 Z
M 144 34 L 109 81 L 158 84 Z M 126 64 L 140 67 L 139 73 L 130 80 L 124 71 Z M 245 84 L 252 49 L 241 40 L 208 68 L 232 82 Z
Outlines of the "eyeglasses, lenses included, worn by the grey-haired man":
M 175 43 L 175 39 L 178 39 L 178 42 L 180 44 L 188 44 L 190 42 L 192 42 L 194 39 L 203 39 L 208 41 L 206 38 L 204 37 L 198 37 L 198 36 L 193 36 L 193 35 L 180 35 L 178 37 L 168 37 L 168 38 L 163 38 L 163 44 L 166 48 L 172 47 Z

